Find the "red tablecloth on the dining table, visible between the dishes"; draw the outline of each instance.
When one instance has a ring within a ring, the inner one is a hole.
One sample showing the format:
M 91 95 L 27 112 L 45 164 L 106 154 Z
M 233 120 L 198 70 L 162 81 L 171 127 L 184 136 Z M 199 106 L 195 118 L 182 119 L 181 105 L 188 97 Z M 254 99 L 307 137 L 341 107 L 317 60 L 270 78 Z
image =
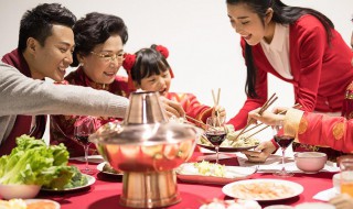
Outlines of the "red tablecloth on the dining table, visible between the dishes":
M 200 157 L 207 157 L 208 153 L 194 152 L 190 162 L 196 162 Z M 220 164 L 228 166 L 239 166 L 237 153 L 225 153 L 227 157 L 220 160 Z M 77 160 L 69 160 L 71 165 L 84 168 L 85 163 Z M 40 191 L 36 198 L 51 199 L 61 205 L 61 209 L 119 209 L 126 208 L 119 204 L 122 194 L 122 176 L 109 175 L 97 169 L 98 163 L 89 163 L 94 170 L 92 175 L 95 183 L 88 187 L 67 191 Z M 296 197 L 271 201 L 259 201 L 264 208 L 271 205 L 296 206 L 302 202 L 317 202 L 313 196 L 319 191 L 332 188 L 332 176 L 334 172 L 320 172 L 317 174 L 296 173 L 291 177 L 276 177 L 271 173 L 255 173 L 250 179 L 284 179 L 297 183 L 303 187 L 303 191 Z M 197 209 L 203 204 L 212 201 L 214 198 L 220 200 L 232 200 L 223 194 L 224 185 L 212 185 L 207 183 L 190 183 L 178 179 L 178 190 L 181 201 L 164 208 L 170 209 Z

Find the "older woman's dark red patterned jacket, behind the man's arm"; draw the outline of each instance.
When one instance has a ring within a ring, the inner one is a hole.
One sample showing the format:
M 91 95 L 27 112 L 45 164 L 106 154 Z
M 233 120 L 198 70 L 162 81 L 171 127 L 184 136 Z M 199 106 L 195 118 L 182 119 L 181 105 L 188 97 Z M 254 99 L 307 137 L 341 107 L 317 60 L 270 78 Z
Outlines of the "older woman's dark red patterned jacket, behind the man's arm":
M 109 85 L 101 85 L 92 81 L 86 74 L 84 73 L 82 67 L 78 67 L 75 72 L 72 72 L 65 77 L 65 82 L 71 85 L 77 85 L 77 86 L 85 86 L 85 87 L 92 87 L 94 89 L 99 90 L 107 90 L 111 94 L 122 96 L 122 97 L 129 97 L 130 91 L 128 90 L 128 84 L 127 78 L 121 76 L 116 76 L 116 79 L 114 82 Z M 67 151 L 69 153 L 69 156 L 83 156 L 84 155 L 84 148 L 83 146 L 77 142 L 77 140 L 74 138 L 74 124 L 76 120 L 78 119 L 78 116 L 51 116 L 51 144 L 58 144 L 64 143 L 67 147 Z M 116 118 L 99 118 L 98 127 L 107 123 L 107 122 L 114 122 L 121 119 Z M 90 146 L 89 153 L 93 154 L 96 152 L 96 148 L 94 145 Z

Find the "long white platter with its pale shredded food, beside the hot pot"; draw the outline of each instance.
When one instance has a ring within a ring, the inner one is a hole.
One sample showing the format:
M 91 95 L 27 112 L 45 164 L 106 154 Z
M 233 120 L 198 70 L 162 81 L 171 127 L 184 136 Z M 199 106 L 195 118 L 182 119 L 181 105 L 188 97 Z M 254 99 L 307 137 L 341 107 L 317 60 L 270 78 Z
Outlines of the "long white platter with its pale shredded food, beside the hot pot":
M 201 163 L 183 163 L 175 172 L 176 177 L 183 182 L 225 185 L 250 178 L 256 173 L 256 168 L 225 166 L 203 161 Z

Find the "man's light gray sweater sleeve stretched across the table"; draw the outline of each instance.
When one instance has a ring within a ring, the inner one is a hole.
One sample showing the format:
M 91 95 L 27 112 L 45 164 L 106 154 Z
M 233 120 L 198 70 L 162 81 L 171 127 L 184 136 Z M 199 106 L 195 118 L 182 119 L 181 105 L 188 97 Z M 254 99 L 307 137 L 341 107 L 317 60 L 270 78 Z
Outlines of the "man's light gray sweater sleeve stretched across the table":
M 82 114 L 124 118 L 129 100 L 105 90 L 35 80 L 0 63 L 0 117 Z

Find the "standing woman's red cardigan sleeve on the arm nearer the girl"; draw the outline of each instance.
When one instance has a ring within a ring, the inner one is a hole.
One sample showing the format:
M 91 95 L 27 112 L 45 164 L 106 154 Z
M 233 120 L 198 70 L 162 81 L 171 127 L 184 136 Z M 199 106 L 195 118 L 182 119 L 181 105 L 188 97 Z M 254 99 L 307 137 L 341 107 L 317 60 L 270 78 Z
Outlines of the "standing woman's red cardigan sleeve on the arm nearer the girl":
M 242 38 L 243 56 L 245 56 L 245 41 Z M 267 72 L 258 70 L 255 90 L 259 99 L 247 98 L 239 112 L 227 123 L 233 124 L 235 130 L 243 129 L 247 122 L 248 112 L 261 107 L 267 100 Z

